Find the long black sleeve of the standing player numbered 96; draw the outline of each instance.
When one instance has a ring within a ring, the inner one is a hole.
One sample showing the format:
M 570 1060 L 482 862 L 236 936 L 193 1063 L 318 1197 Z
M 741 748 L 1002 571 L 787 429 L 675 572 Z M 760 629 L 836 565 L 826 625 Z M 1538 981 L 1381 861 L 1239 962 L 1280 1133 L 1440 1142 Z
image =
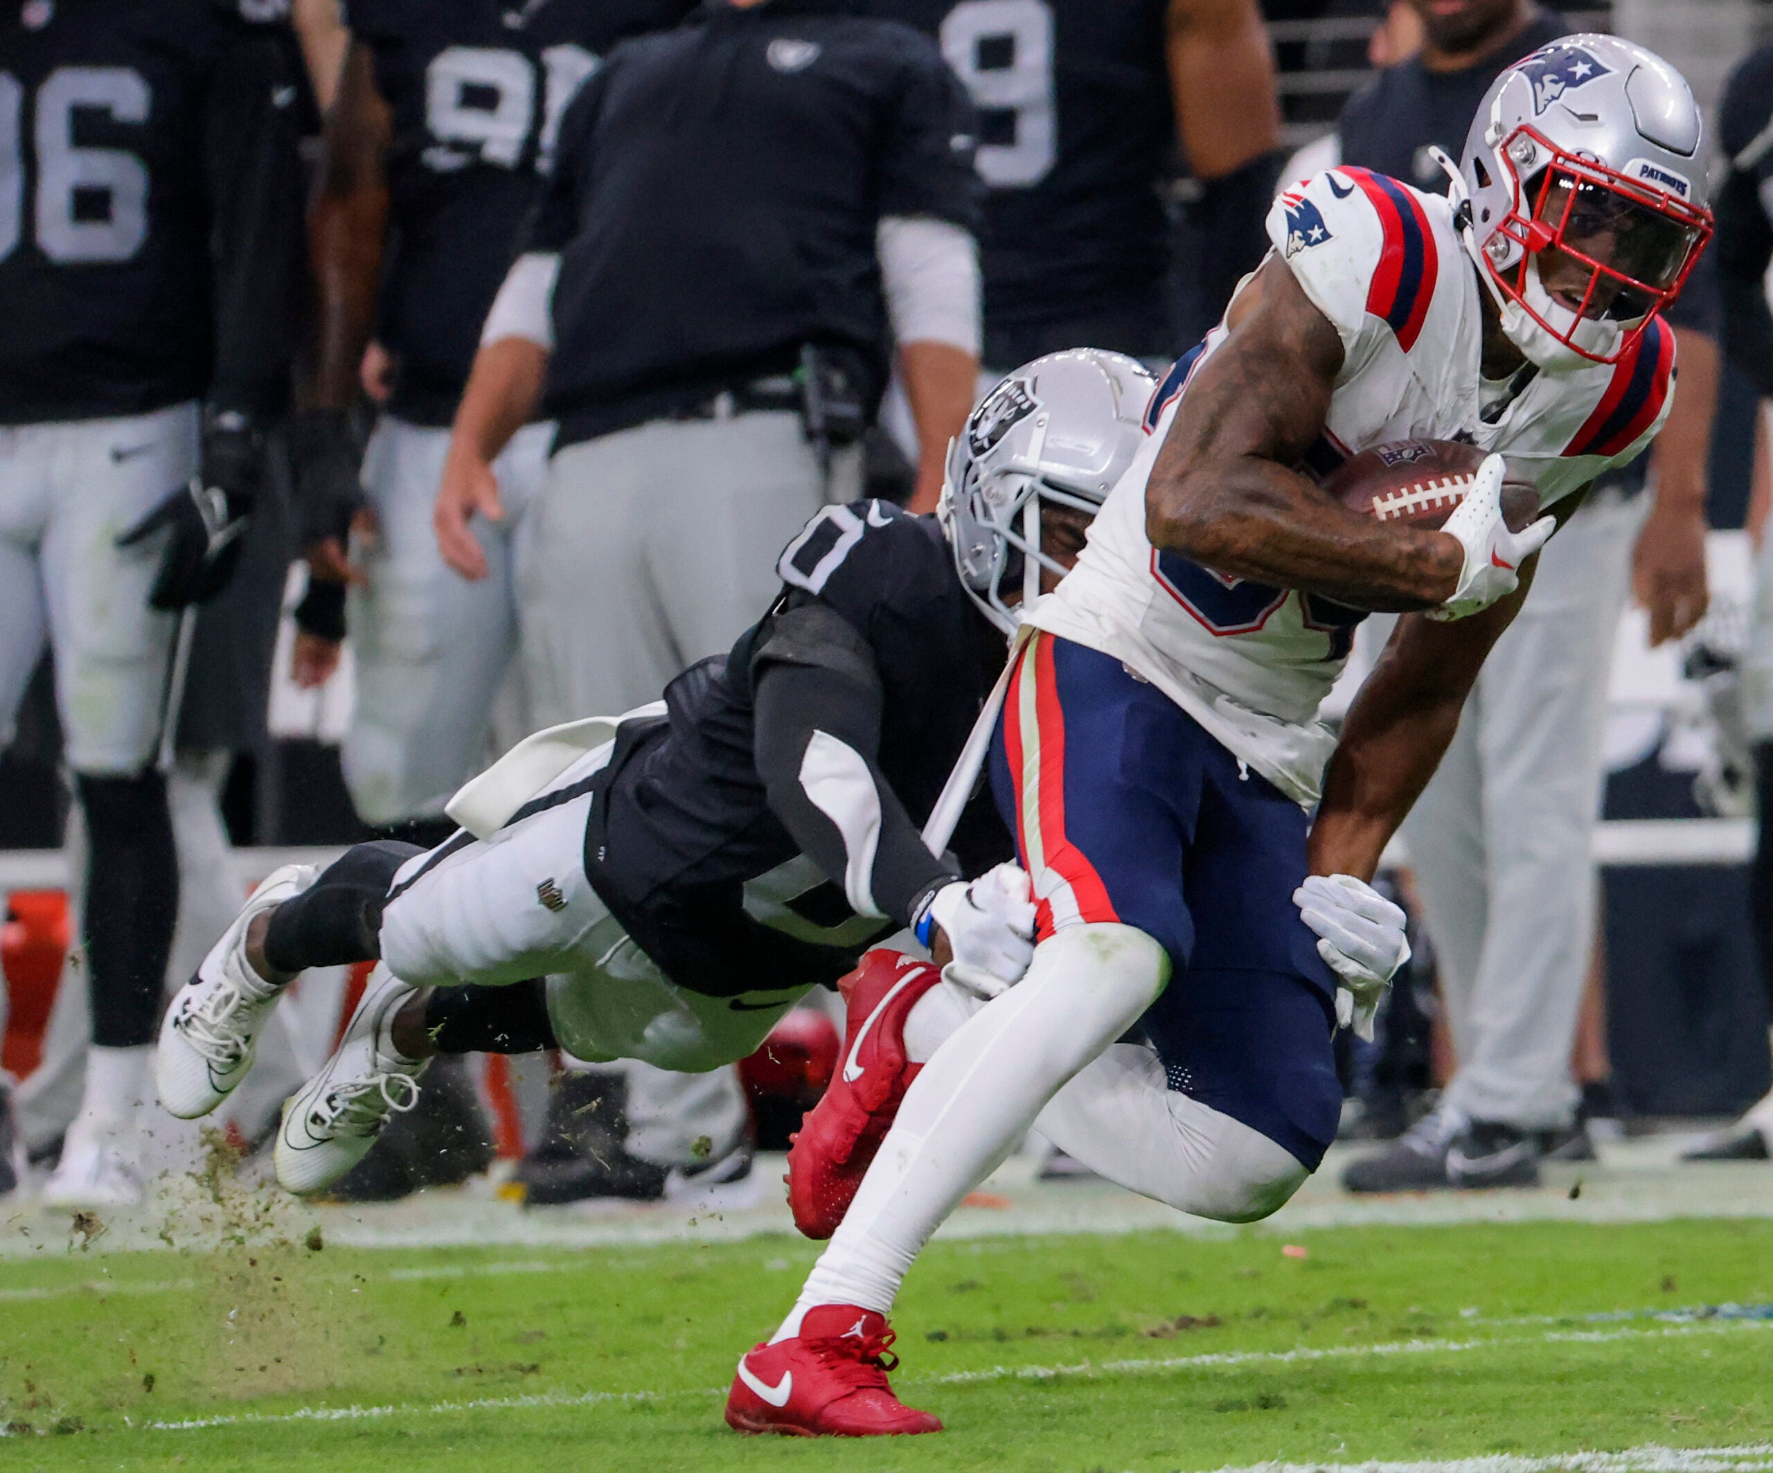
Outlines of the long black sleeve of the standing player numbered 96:
M 307 262 L 301 126 L 312 106 L 287 25 L 223 18 L 204 168 L 215 262 L 215 409 L 264 422 L 289 395 Z

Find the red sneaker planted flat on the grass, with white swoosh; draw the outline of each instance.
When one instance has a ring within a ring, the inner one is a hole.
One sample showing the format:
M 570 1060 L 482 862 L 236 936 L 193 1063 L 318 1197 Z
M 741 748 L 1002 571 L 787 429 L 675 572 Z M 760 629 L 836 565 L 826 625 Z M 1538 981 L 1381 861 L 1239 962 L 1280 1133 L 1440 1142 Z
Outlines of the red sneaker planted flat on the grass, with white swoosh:
M 940 1432 L 941 1422 L 901 1402 L 886 1372 L 899 1358 L 886 1347 L 886 1315 L 855 1305 L 807 1312 L 800 1335 L 754 1345 L 739 1358 L 727 1395 L 727 1425 L 736 1432 L 789 1438 L 895 1438 Z

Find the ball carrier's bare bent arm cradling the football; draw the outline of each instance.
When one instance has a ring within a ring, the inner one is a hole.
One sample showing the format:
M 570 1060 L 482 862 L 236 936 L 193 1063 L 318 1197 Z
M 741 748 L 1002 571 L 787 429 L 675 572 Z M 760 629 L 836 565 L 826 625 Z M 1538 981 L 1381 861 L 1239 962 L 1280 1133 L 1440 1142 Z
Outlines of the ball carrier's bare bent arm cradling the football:
M 1323 433 L 1342 339 L 1285 261 L 1269 255 L 1227 326 L 1151 473 L 1152 546 L 1351 608 L 1408 612 L 1449 599 L 1464 565 L 1457 539 L 1356 516 L 1291 470 Z

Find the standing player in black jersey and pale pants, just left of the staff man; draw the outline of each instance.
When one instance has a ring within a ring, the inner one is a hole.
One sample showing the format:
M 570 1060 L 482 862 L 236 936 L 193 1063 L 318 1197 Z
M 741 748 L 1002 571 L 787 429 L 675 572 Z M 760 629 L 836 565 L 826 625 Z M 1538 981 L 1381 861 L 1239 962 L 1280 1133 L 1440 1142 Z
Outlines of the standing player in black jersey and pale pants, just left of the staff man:
M 551 427 L 527 427 L 500 457 L 505 516 L 475 523 L 482 576 L 468 581 L 443 564 L 431 532 L 449 425 L 567 103 L 610 46 L 676 25 L 690 7 L 346 7 L 351 39 L 312 220 L 312 381 L 293 427 L 305 539 L 323 574 L 298 613 L 296 674 L 317 684 L 337 665 L 351 576 L 344 535 L 367 493 L 376 534 L 351 620 L 356 700 L 342 760 L 369 824 L 417 822 L 415 837 L 441 837 L 443 801 L 482 766 L 493 697 L 516 649 L 514 542 Z M 360 466 L 349 409 L 365 362 L 381 417 Z

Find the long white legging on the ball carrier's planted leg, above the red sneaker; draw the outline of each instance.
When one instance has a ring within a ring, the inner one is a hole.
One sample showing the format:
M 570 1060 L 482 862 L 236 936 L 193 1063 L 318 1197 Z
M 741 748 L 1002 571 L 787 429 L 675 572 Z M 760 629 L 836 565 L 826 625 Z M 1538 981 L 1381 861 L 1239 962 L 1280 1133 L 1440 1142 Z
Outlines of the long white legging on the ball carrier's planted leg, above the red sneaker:
M 1028 975 L 957 1028 L 906 1090 L 855 1204 L 773 1340 L 798 1335 L 817 1305 L 890 1310 L 943 1218 L 1167 980 L 1163 948 L 1129 925 L 1073 925 L 1043 941 Z

